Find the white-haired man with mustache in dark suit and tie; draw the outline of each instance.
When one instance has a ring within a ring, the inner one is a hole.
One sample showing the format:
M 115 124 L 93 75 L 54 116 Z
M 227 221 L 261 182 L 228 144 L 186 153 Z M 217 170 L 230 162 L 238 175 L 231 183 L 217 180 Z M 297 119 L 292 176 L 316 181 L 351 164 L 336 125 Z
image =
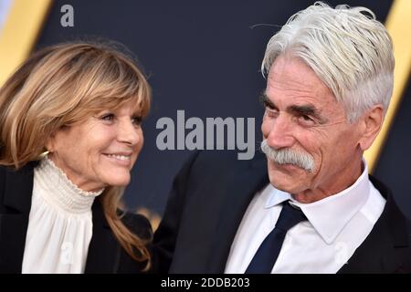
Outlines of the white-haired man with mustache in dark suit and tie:
M 363 153 L 393 89 L 385 27 L 364 7 L 316 3 L 269 40 L 261 150 L 199 152 L 156 235 L 171 273 L 410 272 L 408 221 Z

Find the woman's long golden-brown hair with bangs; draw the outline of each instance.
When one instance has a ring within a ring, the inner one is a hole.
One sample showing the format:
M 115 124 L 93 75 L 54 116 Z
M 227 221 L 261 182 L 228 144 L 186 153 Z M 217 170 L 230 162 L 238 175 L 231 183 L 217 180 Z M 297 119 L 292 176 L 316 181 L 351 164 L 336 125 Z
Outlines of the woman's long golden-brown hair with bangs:
M 100 110 L 133 100 L 145 116 L 151 89 L 132 57 L 107 44 L 66 43 L 46 47 L 16 70 L 0 89 L 0 165 L 19 169 L 38 161 L 46 141 L 61 127 L 86 120 Z M 104 214 L 121 246 L 151 265 L 146 244 L 118 214 L 121 187 L 100 195 Z M 150 236 L 151 237 L 151 236 Z

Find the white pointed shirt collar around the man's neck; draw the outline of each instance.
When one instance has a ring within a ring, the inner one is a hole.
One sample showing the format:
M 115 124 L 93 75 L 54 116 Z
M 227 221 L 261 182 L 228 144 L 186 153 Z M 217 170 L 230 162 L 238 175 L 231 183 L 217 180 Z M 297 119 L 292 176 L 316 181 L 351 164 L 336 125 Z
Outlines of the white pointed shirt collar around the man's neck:
M 364 171 L 360 177 L 340 193 L 330 195 L 314 203 L 299 203 L 295 201 L 290 193 L 282 192 L 269 184 L 264 192 L 270 192 L 265 205 L 270 208 L 284 201 L 290 200 L 300 207 L 307 216 L 314 229 L 328 244 L 332 244 L 342 228 L 357 214 L 364 206 L 370 193 L 370 181 L 368 179 L 367 163 L 363 159 Z

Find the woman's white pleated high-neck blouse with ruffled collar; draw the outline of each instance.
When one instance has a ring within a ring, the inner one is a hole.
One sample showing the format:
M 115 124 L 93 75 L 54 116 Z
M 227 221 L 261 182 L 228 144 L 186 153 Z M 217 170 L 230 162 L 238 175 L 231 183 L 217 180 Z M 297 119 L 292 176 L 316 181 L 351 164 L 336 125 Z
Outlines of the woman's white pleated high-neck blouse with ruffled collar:
M 84 192 L 47 157 L 34 170 L 22 273 L 83 273 L 92 235 L 91 205 L 102 193 Z

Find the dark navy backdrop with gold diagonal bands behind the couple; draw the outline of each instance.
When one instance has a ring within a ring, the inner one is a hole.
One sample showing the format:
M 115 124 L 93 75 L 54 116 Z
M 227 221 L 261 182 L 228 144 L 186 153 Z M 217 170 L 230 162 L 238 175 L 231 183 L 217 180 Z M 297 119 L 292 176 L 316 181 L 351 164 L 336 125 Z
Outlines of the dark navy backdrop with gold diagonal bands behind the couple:
M 260 64 L 267 42 L 287 19 L 313 1 L 292 0 L 0 0 L 0 84 L 30 52 L 69 40 L 111 39 L 128 47 L 153 88 L 143 122 L 145 144 L 125 203 L 153 222 L 163 214 L 174 175 L 190 151 L 159 151 L 156 121 L 190 117 L 255 118 L 256 149 L 265 89 Z M 374 176 L 386 183 L 411 218 L 411 1 L 338 0 L 362 5 L 386 24 L 395 43 L 395 94 L 385 129 L 367 152 Z M 336 146 L 338 151 L 338 146 Z

